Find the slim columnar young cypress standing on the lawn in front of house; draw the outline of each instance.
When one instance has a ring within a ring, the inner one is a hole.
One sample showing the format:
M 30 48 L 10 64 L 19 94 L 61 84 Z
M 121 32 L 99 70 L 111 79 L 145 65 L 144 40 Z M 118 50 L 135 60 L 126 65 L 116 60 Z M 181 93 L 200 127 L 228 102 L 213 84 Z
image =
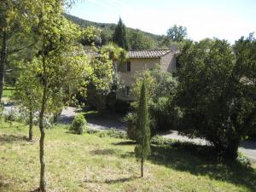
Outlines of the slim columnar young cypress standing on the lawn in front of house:
M 150 154 L 150 129 L 148 119 L 148 99 L 145 88 L 145 82 L 142 84 L 141 96 L 137 108 L 137 145 L 135 155 L 137 160 L 141 161 L 141 177 L 143 177 L 143 163 Z

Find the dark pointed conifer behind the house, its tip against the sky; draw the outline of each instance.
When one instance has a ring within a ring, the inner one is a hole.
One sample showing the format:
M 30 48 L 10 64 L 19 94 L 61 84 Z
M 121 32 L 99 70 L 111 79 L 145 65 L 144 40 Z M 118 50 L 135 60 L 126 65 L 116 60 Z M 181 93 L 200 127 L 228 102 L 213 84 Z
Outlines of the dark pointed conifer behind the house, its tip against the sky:
M 127 41 L 127 37 L 126 37 L 125 24 L 123 23 L 121 18 L 119 18 L 118 25 L 114 29 L 113 42 L 115 44 L 119 45 L 119 47 L 121 47 L 123 49 L 126 49 L 126 50 L 129 49 L 128 41 Z

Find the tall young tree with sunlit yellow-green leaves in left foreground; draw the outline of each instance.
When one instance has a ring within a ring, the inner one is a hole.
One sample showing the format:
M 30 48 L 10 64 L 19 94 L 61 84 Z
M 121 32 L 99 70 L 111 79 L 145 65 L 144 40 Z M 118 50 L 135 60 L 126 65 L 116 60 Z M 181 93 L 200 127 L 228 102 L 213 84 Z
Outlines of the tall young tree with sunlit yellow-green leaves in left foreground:
M 33 15 L 38 37 L 38 54 L 27 70 L 31 70 L 40 84 L 34 84 L 42 92 L 37 98 L 40 102 L 38 124 L 40 129 L 40 186 L 46 191 L 44 162 L 44 117 L 46 113 L 54 113 L 71 96 L 71 90 L 84 85 L 86 87 L 91 69 L 82 47 L 78 46 L 80 32 L 77 26 L 63 16 L 63 5 L 67 1 L 40 0 L 34 2 L 37 9 Z M 25 84 L 24 84 L 25 85 Z

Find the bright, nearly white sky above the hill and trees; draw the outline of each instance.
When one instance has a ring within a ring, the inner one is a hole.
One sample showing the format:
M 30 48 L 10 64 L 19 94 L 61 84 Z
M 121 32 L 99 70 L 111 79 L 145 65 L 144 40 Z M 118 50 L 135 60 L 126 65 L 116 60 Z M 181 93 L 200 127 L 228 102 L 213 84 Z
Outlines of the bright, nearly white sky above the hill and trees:
M 159 35 L 177 24 L 195 41 L 220 38 L 234 44 L 256 32 L 256 0 L 79 0 L 68 13 L 101 23 L 121 17 L 125 26 Z

